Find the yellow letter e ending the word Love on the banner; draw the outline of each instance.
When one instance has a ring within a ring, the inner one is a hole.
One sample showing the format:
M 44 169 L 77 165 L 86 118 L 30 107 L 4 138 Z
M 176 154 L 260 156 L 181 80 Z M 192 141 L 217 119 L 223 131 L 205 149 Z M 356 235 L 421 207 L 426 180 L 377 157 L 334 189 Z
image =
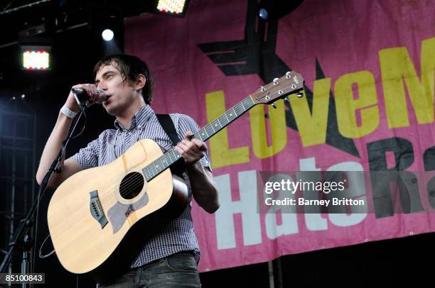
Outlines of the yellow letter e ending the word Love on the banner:
M 353 97 L 353 84 L 358 87 L 358 99 Z M 360 138 L 372 133 L 379 126 L 379 108 L 375 77 L 368 71 L 344 74 L 334 86 L 338 131 L 346 138 Z M 356 111 L 360 109 L 361 125 Z

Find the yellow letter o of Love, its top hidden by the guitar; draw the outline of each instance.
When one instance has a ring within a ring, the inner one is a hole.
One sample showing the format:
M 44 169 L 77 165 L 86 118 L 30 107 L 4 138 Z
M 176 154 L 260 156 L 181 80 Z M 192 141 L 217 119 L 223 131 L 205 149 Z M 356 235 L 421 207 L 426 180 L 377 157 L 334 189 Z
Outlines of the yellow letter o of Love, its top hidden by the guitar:
M 284 101 L 276 101 L 276 109 L 269 109 L 270 133 L 272 145 L 267 145 L 266 118 L 264 105 L 254 106 L 249 111 L 252 133 L 252 150 L 259 159 L 272 157 L 283 150 L 287 144 L 286 114 Z

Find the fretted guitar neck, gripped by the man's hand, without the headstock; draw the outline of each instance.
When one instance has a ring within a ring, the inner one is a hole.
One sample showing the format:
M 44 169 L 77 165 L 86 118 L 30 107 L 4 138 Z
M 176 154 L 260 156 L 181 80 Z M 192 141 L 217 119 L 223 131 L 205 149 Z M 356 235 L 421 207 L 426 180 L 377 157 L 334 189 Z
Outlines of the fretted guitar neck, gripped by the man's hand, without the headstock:
M 232 121 L 242 116 L 246 111 L 254 106 L 254 101 L 252 101 L 251 96 L 247 96 L 239 104 L 233 106 L 231 109 L 227 110 L 225 113 L 220 115 L 215 120 L 211 121 L 205 125 L 200 131 L 193 135 L 193 138 L 200 140 L 208 140 L 213 135 L 221 131 L 223 128 L 228 126 Z M 146 165 L 142 170 L 146 177 L 146 181 L 149 181 L 159 175 L 164 170 L 168 169 L 173 163 L 181 158 L 181 155 L 174 149 L 168 150 L 161 157 L 157 158 L 149 165 Z

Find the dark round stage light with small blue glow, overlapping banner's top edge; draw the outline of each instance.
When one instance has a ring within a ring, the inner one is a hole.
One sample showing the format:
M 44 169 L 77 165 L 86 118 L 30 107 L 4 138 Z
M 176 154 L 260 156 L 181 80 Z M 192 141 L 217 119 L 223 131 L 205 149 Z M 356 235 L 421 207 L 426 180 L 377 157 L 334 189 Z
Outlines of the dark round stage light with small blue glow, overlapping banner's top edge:
M 278 20 L 294 11 L 304 0 L 262 0 L 257 6 L 258 16 L 264 21 Z

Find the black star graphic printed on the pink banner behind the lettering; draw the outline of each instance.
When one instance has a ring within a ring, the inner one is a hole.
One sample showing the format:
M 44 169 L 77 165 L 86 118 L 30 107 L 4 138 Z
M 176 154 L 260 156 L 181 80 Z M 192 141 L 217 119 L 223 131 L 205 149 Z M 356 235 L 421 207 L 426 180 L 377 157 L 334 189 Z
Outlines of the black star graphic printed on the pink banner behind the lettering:
M 257 23 L 257 29 L 256 29 Z M 208 55 L 226 76 L 258 74 L 264 83 L 272 82 L 275 77 L 285 74 L 291 69 L 276 55 L 276 37 L 278 21 L 264 22 L 257 19 L 257 1 L 248 0 L 245 39 L 198 44 L 200 50 Z M 264 35 L 266 40 L 264 40 Z M 325 75 L 316 59 L 316 79 Z M 313 93 L 304 87 L 308 106 L 313 111 Z M 289 106 L 289 104 L 286 104 Z M 298 131 L 294 113 L 286 110 L 286 125 Z M 345 153 L 360 157 L 353 139 L 345 138 L 338 131 L 335 101 L 332 92 L 329 96 L 328 126 L 326 143 Z

